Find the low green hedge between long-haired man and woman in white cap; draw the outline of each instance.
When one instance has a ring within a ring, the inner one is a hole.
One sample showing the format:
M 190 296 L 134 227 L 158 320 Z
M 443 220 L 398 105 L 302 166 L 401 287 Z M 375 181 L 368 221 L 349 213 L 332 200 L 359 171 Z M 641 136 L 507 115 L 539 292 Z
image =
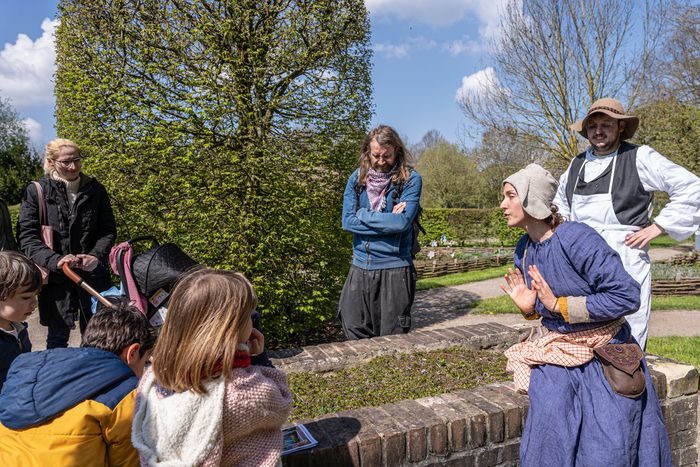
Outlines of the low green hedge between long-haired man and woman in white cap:
M 512 229 L 506 224 L 503 211 L 493 209 L 443 209 L 423 210 L 421 225 L 426 234 L 420 242 L 428 244 L 440 241 L 442 235 L 460 245 L 513 246 L 523 235 L 522 229 Z

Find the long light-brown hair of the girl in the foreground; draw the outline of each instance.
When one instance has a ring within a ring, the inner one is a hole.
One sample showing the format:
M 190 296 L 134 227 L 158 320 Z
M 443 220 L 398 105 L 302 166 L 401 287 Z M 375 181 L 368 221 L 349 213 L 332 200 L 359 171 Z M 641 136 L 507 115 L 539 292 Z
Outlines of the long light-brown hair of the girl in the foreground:
M 153 350 L 158 383 L 176 392 L 206 392 L 203 382 L 223 366 L 230 376 L 239 335 L 257 306 L 243 274 L 196 269 L 182 277 L 170 297 L 168 315 Z

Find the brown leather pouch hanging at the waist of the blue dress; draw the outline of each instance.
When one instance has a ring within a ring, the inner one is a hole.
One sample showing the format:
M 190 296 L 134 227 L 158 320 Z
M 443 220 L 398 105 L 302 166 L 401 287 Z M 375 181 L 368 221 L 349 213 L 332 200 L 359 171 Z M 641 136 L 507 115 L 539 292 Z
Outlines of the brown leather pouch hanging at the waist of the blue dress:
M 617 394 L 634 399 L 644 394 L 644 353 L 637 344 L 607 344 L 593 349 L 603 365 L 605 379 Z

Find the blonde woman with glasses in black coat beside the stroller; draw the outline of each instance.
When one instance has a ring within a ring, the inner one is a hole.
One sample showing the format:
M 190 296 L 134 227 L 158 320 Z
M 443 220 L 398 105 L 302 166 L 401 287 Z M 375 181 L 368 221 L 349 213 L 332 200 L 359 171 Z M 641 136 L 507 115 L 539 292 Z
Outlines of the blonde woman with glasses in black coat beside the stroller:
M 117 236 L 112 206 L 105 187 L 81 172 L 80 148 L 67 139 L 46 145 L 44 177 L 39 180 L 46 225 L 52 227 L 53 249 L 42 237 L 39 194 L 34 183 L 22 197 L 17 222 L 20 250 L 49 271 L 39 294 L 39 317 L 48 326 L 46 347 L 67 347 L 70 330 L 90 319 L 90 296 L 68 279 L 64 264 L 76 269 L 98 291 L 110 287 L 107 264 Z

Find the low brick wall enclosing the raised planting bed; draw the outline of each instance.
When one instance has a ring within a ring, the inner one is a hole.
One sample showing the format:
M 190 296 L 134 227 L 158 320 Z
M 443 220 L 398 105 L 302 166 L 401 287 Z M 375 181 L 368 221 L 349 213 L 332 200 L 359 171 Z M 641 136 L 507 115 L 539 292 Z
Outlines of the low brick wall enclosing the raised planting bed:
M 489 323 L 291 349 L 273 352 L 272 357 L 286 371 L 330 371 L 386 353 L 458 344 L 506 348 L 528 332 L 528 326 Z M 691 366 L 659 357 L 650 356 L 648 363 L 674 465 L 696 465 L 698 373 Z M 319 444 L 285 456 L 283 462 L 287 467 L 516 466 L 527 409 L 526 396 L 517 394 L 511 383 L 498 383 L 338 412 L 304 420 Z

